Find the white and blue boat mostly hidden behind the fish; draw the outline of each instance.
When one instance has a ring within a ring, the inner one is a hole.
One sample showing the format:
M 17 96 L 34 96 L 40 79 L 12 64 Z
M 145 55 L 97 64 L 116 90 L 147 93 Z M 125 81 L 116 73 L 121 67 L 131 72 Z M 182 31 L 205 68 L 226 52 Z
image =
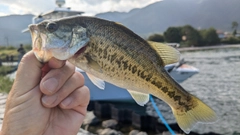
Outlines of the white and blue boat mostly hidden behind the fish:
M 63 7 L 65 0 L 56 0 L 57 8 L 33 17 L 32 23 L 36 24 L 43 20 L 58 19 L 62 17 L 69 17 L 75 15 L 81 15 L 82 11 L 72 11 L 70 8 Z M 27 32 L 24 29 L 22 32 Z M 169 43 L 170 46 L 178 47 L 177 43 Z M 165 69 L 177 82 L 181 83 L 191 76 L 197 74 L 199 70 L 193 66 L 190 66 L 181 60 L 179 63 L 166 65 Z M 101 90 L 95 86 L 91 80 L 87 77 L 85 72 L 82 72 L 85 77 L 85 85 L 89 87 L 91 93 L 91 101 L 133 101 L 131 95 L 127 90 L 117 87 L 113 84 L 105 82 L 105 89 Z

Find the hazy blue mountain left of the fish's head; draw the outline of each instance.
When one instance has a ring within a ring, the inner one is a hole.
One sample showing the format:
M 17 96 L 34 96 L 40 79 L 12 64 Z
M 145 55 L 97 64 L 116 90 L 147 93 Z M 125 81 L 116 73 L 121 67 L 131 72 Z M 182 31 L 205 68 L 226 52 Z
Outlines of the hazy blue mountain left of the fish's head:
M 21 31 L 32 23 L 33 15 L 10 15 L 0 17 L 0 46 L 31 44 L 29 33 Z

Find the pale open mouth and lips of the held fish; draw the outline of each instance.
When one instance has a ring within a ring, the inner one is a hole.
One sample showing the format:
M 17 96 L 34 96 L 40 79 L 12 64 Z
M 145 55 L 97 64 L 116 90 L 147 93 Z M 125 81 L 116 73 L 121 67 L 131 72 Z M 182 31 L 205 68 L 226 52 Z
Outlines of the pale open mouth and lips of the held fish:
M 46 35 L 40 32 L 36 24 L 29 25 L 29 29 L 32 37 L 32 50 L 36 58 L 42 63 L 49 61 L 53 55 L 45 48 Z

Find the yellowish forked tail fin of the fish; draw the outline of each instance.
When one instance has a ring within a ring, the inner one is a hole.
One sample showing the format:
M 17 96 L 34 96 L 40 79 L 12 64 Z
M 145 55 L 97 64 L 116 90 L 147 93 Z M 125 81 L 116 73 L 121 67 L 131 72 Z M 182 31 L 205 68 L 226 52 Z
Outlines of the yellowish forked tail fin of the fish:
M 191 110 L 182 113 L 172 108 L 179 127 L 187 134 L 190 133 L 193 126 L 198 122 L 213 123 L 217 120 L 216 113 L 209 106 L 195 96 L 192 96 L 192 98 L 197 101 L 197 106 Z

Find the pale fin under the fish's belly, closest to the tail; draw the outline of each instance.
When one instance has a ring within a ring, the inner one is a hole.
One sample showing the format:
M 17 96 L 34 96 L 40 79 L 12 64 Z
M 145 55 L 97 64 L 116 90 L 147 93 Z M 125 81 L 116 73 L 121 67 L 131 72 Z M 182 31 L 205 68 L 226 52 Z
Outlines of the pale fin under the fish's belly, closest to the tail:
M 140 106 L 144 106 L 149 101 L 149 94 L 140 93 L 133 90 L 128 90 L 128 92 Z

